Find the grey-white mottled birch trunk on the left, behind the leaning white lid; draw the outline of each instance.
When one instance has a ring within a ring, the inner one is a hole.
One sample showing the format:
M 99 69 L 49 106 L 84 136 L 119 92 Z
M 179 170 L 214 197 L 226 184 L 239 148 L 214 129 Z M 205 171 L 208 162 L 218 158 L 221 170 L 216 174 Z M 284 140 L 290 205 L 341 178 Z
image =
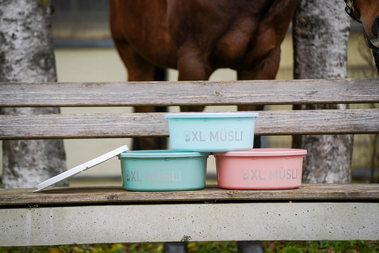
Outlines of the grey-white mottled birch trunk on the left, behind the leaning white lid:
M 0 81 L 56 82 L 49 0 L 0 1 Z M 1 108 L 2 114 L 59 113 L 58 107 Z M 66 170 L 62 140 L 3 141 L 3 186 L 36 187 Z M 62 181 L 58 185 L 67 185 Z

